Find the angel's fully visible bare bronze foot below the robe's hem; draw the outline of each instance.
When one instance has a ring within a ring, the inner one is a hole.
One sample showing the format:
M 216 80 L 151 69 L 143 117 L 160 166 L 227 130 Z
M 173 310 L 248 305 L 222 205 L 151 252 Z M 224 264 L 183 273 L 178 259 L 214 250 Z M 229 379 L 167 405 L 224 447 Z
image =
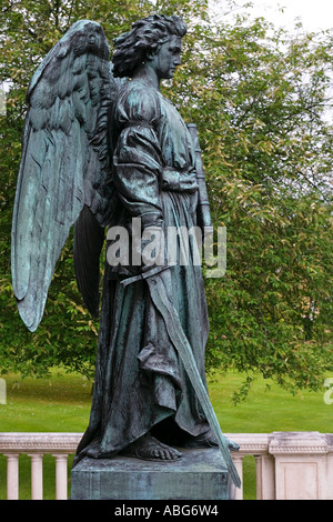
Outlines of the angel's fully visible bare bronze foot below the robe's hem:
M 175 461 L 181 459 L 180 451 L 171 448 L 163 442 L 158 441 L 154 436 L 147 434 L 132 442 L 122 452 L 122 455 L 135 456 L 148 461 Z

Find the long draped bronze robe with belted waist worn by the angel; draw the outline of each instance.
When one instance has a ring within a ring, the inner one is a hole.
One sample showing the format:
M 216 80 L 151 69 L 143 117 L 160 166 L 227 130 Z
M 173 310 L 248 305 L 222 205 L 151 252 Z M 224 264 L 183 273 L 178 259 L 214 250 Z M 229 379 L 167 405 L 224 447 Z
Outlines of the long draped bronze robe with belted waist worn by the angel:
M 170 227 L 191 230 L 198 205 L 195 151 L 176 108 L 132 80 L 119 94 L 109 129 L 119 200 L 111 227 L 131 231 L 133 218 L 140 218 L 143 230 L 157 227 L 164 238 Z M 165 291 L 205 385 L 206 301 L 201 265 L 193 262 L 191 241 L 188 245 L 189 262 L 151 275 L 150 284 Z M 142 271 L 149 275 L 149 269 L 107 263 L 93 401 L 79 458 L 110 458 L 149 431 L 181 445 L 209 430 L 148 282 L 122 284 Z

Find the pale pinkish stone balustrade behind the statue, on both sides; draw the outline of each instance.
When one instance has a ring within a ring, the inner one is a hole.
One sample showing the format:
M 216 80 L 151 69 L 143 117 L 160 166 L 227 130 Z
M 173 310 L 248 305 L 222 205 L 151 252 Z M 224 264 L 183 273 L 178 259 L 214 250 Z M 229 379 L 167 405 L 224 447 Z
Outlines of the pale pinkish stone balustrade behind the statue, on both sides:
M 56 459 L 56 499 L 68 498 L 68 456 L 81 433 L 0 433 L 0 453 L 7 456 L 7 498 L 19 499 L 19 455 L 31 458 L 31 499 L 43 498 L 42 459 Z M 243 479 L 243 458 L 256 462 L 256 500 L 333 500 L 333 434 L 319 432 L 228 433 L 240 444 L 232 452 Z M 243 499 L 243 488 L 234 492 Z

